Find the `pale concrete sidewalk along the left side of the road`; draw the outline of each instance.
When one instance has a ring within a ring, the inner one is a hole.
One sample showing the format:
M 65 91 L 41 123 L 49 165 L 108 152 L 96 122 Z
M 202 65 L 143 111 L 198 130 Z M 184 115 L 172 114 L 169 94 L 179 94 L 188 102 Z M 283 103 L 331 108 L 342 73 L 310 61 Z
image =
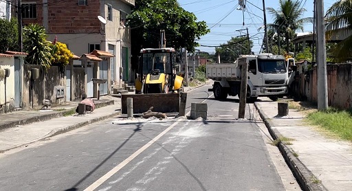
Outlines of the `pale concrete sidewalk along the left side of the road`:
M 16 111 L 0 115 L 0 153 L 65 133 L 74 128 L 118 115 L 120 98 L 109 95 L 94 100 L 96 109 L 85 115 L 72 115 L 78 102 L 52 107 L 51 111 Z M 60 111 L 55 111 L 58 109 Z M 65 111 L 61 111 L 65 109 Z M 65 116 L 67 114 L 71 114 Z

